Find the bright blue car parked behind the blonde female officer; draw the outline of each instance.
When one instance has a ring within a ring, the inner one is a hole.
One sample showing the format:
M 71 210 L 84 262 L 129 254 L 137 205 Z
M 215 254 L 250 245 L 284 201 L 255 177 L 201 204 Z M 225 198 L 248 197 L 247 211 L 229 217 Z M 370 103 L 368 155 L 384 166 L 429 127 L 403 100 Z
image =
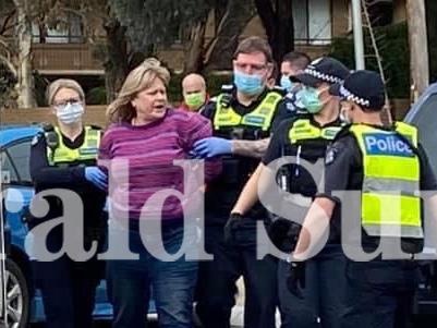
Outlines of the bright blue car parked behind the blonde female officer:
M 29 174 L 31 142 L 41 131 L 39 125 L 0 126 L 0 160 L 2 181 L 2 218 L 10 231 L 7 256 L 7 316 L 9 327 L 24 328 L 28 323 L 44 321 L 40 293 L 32 283 L 29 259 L 24 251 L 27 234 L 25 216 L 34 196 Z M 155 303 L 149 304 L 150 317 L 156 316 Z M 108 303 L 106 281 L 96 293 L 95 319 L 110 319 L 112 307 Z

